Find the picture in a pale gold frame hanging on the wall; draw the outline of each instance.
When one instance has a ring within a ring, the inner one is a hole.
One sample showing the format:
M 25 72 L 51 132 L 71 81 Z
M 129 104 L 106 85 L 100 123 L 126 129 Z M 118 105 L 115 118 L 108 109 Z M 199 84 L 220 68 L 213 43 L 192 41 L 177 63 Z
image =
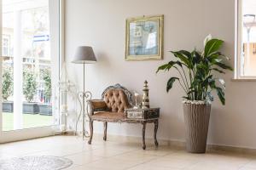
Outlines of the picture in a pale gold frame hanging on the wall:
M 164 15 L 126 20 L 125 60 L 163 58 Z

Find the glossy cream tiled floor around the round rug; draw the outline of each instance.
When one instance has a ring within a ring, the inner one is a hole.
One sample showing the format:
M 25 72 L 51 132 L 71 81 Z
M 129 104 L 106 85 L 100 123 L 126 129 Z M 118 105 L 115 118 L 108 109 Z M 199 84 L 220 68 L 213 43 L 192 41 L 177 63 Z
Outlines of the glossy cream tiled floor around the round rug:
M 79 137 L 55 136 L 0 145 L 0 159 L 13 156 L 65 156 L 73 161 L 67 170 L 256 170 L 256 156 L 212 151 L 189 154 L 184 150 L 153 144 L 94 140 L 89 145 Z

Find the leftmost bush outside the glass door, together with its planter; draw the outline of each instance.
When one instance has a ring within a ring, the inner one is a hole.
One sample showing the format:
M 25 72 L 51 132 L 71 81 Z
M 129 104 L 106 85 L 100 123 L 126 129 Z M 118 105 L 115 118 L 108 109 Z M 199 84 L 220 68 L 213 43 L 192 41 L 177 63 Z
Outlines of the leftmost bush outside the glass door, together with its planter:
M 8 100 L 9 97 L 14 93 L 13 69 L 10 66 L 3 66 L 2 92 L 3 111 L 13 112 L 14 102 Z

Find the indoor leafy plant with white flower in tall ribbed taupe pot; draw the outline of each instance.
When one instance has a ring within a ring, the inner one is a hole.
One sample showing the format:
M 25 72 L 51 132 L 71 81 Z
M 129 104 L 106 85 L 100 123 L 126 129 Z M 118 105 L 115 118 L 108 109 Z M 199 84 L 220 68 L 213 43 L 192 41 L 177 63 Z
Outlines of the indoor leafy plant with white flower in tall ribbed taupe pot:
M 161 65 L 158 71 L 175 69 L 179 77 L 171 77 L 166 91 L 172 89 L 178 82 L 183 88 L 183 114 L 186 129 L 186 147 L 192 153 L 205 153 L 207 133 L 211 112 L 212 91 L 216 91 L 218 99 L 225 105 L 224 79 L 215 77 L 214 72 L 224 74 L 224 70 L 233 71 L 225 62 L 230 60 L 219 52 L 224 41 L 206 37 L 203 52 L 196 49 L 192 52 L 180 50 L 171 51 L 175 59 L 166 65 Z

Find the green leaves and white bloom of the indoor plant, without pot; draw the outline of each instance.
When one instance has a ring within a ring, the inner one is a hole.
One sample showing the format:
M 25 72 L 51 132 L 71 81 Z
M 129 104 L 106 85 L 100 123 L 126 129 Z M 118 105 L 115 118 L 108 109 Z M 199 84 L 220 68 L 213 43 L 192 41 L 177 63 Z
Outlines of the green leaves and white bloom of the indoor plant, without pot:
M 213 73 L 224 74 L 224 70 L 233 71 L 226 62 L 230 58 L 219 52 L 224 41 L 212 39 L 208 36 L 205 40 L 205 47 L 202 52 L 196 49 L 192 52 L 180 50 L 171 51 L 175 59 L 166 65 L 161 65 L 158 71 L 170 71 L 175 69 L 179 77 L 171 77 L 167 82 L 166 91 L 172 89 L 174 82 L 179 82 L 188 100 L 213 101 L 212 91 L 216 91 L 221 103 L 225 105 L 224 79 L 215 77 Z M 157 71 L 157 72 L 158 72 Z

